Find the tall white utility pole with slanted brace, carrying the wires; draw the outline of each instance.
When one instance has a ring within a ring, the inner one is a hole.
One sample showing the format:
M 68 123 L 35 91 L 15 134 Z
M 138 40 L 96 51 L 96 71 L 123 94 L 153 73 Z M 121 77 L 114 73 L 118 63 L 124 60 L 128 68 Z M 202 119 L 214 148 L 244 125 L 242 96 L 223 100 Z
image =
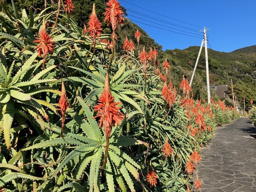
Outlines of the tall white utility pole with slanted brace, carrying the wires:
M 200 50 L 199 50 L 199 53 L 198 53 L 198 56 L 197 56 L 196 64 L 195 64 L 194 71 L 192 73 L 189 85 L 190 86 L 192 85 L 192 81 L 194 79 L 195 71 L 197 69 L 197 64 L 198 64 L 198 61 L 199 61 L 199 57 L 201 55 L 202 47 L 203 47 L 203 44 L 204 44 L 205 66 L 206 66 L 206 81 L 207 81 L 207 98 L 208 98 L 208 103 L 211 103 L 209 63 L 208 63 L 208 50 L 207 50 L 207 34 L 206 34 L 207 30 L 209 30 L 209 29 L 206 29 L 206 27 L 204 27 L 204 39 L 201 42 Z

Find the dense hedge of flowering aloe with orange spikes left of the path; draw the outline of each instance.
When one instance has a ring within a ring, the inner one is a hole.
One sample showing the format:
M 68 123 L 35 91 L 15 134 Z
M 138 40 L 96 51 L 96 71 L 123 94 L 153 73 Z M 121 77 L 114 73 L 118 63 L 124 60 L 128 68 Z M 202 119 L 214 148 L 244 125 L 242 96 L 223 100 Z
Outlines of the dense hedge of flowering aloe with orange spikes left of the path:
M 189 191 L 200 147 L 237 112 L 194 101 L 184 77 L 174 87 L 156 50 L 127 38 L 116 53 L 116 0 L 112 34 L 94 7 L 81 30 L 72 1 L 57 3 L 36 13 L 0 1 L 1 191 Z

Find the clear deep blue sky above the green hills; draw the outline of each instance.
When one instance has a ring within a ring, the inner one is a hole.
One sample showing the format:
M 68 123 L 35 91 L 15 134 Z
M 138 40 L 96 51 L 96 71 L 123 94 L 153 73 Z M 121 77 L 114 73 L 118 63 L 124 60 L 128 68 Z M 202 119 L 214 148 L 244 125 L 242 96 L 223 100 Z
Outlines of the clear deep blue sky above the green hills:
M 182 25 L 195 30 L 203 30 L 200 27 L 207 27 L 209 35 L 209 42 L 212 49 L 222 52 L 231 52 L 233 50 L 251 46 L 256 44 L 256 0 L 119 0 L 122 6 L 127 9 L 128 18 L 136 20 L 134 22 L 143 28 L 150 37 L 166 49 L 184 49 L 189 46 L 200 46 L 201 39 L 196 37 L 176 34 L 170 31 L 158 29 L 142 23 L 147 23 L 167 30 L 172 30 L 180 33 L 182 31 L 174 30 L 172 28 L 184 30 L 187 32 L 198 34 L 193 30 L 176 27 L 168 24 L 168 22 Z M 129 3 L 142 7 L 144 9 L 157 12 L 164 16 L 149 12 L 142 8 L 136 7 Z M 133 11 L 133 12 L 132 12 Z M 138 15 L 146 14 L 155 17 L 158 20 L 165 20 L 167 23 L 162 23 L 151 18 Z M 133 17 L 133 16 L 139 17 Z M 188 25 L 167 17 L 181 20 L 186 23 L 191 23 L 196 26 Z M 144 20 L 143 20 L 144 19 Z M 145 21 L 148 20 L 148 21 Z M 151 21 L 151 22 L 149 22 Z M 140 23 L 139 23 L 140 22 Z M 154 22 L 154 23 L 153 23 Z M 158 25 L 158 24 L 164 25 Z M 167 27 L 166 27 L 167 26 Z M 185 33 L 189 34 L 189 33 Z M 194 34 L 189 34 L 198 36 Z

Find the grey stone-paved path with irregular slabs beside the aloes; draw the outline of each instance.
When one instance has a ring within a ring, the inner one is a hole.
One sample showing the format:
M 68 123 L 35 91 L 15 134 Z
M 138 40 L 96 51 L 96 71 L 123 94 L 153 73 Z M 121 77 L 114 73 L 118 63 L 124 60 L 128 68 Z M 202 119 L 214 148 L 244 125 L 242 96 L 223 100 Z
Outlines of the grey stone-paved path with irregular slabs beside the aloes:
M 256 129 L 242 117 L 221 126 L 197 164 L 203 192 L 256 191 Z M 195 190 L 194 190 L 195 191 Z

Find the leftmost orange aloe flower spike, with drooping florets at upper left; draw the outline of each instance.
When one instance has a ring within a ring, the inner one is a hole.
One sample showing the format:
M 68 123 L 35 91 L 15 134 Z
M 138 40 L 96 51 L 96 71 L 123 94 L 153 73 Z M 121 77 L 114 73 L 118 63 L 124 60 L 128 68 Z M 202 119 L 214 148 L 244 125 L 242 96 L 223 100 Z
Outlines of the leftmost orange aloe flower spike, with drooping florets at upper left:
M 39 32 L 39 36 L 39 38 L 36 37 L 37 40 L 34 40 L 34 43 L 39 44 L 33 50 L 38 48 L 38 56 L 41 56 L 42 52 L 44 56 L 46 56 L 48 52 L 52 55 L 55 44 L 55 42 L 52 41 L 52 37 L 49 36 L 45 28 L 42 28 L 42 30 Z

